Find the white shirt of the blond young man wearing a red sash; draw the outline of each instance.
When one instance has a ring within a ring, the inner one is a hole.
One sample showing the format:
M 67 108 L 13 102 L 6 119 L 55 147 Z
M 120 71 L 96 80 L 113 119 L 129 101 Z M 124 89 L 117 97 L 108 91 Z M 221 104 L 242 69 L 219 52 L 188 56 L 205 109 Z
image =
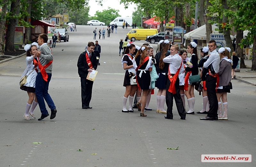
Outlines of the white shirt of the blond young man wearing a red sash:
M 170 73 L 171 74 L 176 74 L 176 72 L 178 71 L 178 69 L 180 68 L 180 64 L 182 62 L 182 58 L 180 57 L 180 55 L 177 53 L 175 55 L 170 55 L 167 56 L 166 58 L 163 59 L 163 61 L 165 63 L 169 63 L 169 69 L 170 69 Z M 183 66 L 183 62 L 180 68 L 180 73 L 183 73 L 184 71 L 184 66 Z

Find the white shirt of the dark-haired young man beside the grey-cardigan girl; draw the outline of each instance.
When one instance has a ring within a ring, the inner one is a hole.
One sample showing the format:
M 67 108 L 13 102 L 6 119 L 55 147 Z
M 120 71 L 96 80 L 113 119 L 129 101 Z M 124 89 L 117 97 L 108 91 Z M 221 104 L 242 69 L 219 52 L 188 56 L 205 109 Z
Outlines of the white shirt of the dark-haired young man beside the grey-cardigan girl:
M 212 64 L 215 73 L 218 73 L 220 69 L 220 55 L 216 49 L 210 52 L 209 58 L 204 62 L 204 68 L 207 68 L 210 64 Z

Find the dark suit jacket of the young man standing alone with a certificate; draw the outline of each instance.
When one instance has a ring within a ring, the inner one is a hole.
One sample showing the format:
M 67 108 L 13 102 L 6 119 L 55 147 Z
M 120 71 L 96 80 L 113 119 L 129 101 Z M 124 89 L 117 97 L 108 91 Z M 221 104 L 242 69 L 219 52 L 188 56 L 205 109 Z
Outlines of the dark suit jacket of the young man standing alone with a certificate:
M 78 74 L 81 78 L 87 77 L 88 69 L 89 69 L 89 66 L 86 62 L 85 53 L 86 53 L 86 51 L 81 53 L 78 58 L 78 61 L 77 61 Z M 97 59 L 96 59 L 96 55 L 94 52 L 92 52 L 90 60 L 92 62 L 92 68 L 94 68 L 94 70 L 96 70 L 97 69 Z

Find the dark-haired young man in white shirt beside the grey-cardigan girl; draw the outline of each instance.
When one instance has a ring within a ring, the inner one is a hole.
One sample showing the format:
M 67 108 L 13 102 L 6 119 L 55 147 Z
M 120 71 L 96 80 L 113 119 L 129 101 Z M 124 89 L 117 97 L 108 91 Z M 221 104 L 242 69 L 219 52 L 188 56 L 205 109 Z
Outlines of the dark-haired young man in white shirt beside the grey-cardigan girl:
M 212 65 L 213 71 L 208 72 L 209 75 L 206 75 L 205 86 L 207 88 L 207 95 L 210 104 L 210 110 L 207 113 L 205 118 L 200 118 L 200 120 L 218 120 L 218 99 L 216 95 L 216 83 L 218 76 L 218 71 L 220 69 L 220 55 L 216 51 L 216 41 L 211 40 L 208 42 L 208 48 L 210 51 L 210 56 L 206 60 L 203 66 L 207 69 Z M 219 85 L 219 83 L 217 83 Z

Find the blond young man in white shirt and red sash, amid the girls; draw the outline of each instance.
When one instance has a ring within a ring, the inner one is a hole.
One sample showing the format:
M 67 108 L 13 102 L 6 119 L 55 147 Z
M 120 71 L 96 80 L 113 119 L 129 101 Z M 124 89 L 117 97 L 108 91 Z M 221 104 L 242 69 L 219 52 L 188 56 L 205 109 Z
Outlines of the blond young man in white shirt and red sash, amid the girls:
M 169 45 L 169 42 L 168 42 Z M 168 79 L 166 86 L 166 105 L 167 105 L 167 115 L 164 116 L 165 119 L 173 119 L 172 106 L 173 98 L 175 99 L 176 107 L 180 115 L 180 119 L 186 119 L 186 112 L 183 106 L 183 102 L 180 96 L 180 79 L 179 75 L 184 71 L 184 66 L 182 58 L 178 54 L 179 46 L 172 45 L 170 50 L 170 56 L 163 59 L 165 63 L 169 63 L 168 68 Z

